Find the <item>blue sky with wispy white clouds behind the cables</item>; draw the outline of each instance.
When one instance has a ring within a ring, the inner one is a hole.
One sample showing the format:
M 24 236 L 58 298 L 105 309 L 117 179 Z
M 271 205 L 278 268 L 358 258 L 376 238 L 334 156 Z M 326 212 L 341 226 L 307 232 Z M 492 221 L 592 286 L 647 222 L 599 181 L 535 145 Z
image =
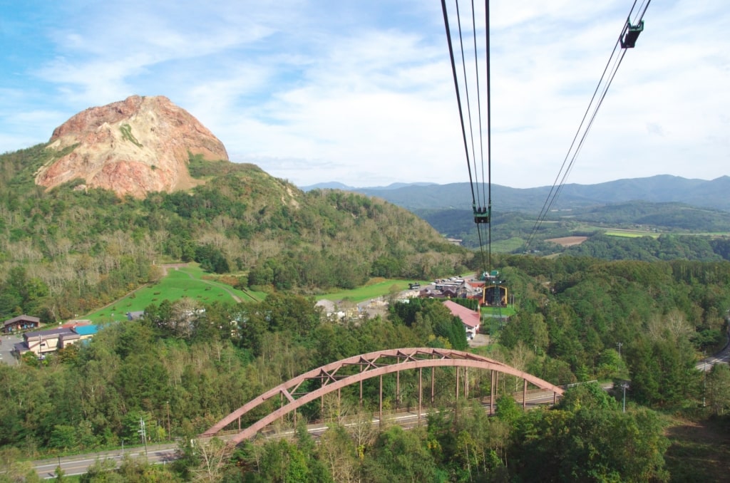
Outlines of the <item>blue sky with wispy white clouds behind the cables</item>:
M 553 184 L 631 4 L 491 1 L 493 184 Z M 730 3 L 644 20 L 567 182 L 730 174 Z M 138 94 L 298 186 L 469 181 L 436 0 L 0 0 L 0 59 L 0 152 Z

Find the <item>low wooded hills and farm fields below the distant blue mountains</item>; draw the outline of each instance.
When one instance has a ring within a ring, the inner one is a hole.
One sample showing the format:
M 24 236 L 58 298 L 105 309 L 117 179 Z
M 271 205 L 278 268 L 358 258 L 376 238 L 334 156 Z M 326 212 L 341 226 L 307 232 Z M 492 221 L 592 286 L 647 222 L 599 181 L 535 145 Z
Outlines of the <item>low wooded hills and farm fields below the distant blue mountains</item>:
M 415 213 L 445 236 L 461 239 L 464 247 L 479 246 L 471 212 L 465 209 L 418 209 Z M 730 213 L 678 203 L 633 201 L 550 212 L 537 225 L 537 216 L 523 212 L 493 212 L 492 249 L 496 252 L 541 255 L 567 252 L 606 260 L 730 260 Z M 626 231 L 626 237 L 604 233 Z M 546 241 L 585 236 L 578 247 Z M 527 242 L 531 240 L 529 246 Z

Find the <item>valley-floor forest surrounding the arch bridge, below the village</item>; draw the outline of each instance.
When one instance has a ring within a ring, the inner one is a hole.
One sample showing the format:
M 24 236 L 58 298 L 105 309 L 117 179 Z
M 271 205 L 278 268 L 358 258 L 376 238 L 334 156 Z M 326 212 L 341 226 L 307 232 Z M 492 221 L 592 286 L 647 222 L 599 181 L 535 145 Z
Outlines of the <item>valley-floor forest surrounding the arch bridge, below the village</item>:
M 730 263 L 525 256 L 497 263 L 518 314 L 488 328 L 495 343 L 483 353 L 555 384 L 630 379 L 626 413 L 621 393 L 612 398 L 594 387 L 566 395 L 552 410 L 523 414 L 502 398 L 491 419 L 462 401 L 458 413 L 433 414 L 420 430 L 379 432 L 368 422 L 379 397 L 371 379 L 362 409 L 358 387 L 343 388 L 339 406 L 333 396 L 301 409 L 300 422 L 329 422 L 320 444 L 301 431 L 295 441 L 259 442 L 232 454 L 215 442 L 204 450 L 185 443 L 183 458 L 158 471 L 168 481 L 201 474 L 229 482 L 667 481 L 677 463 L 665 463 L 667 421 L 655 410 L 697 417 L 729 409 L 730 371 L 717 368 L 703 384 L 694 365 L 702 351 L 723 344 Z M 180 322 L 174 306 L 150 306 L 142 320 L 107 325 L 88 346 L 71 346 L 42 363 L 0 364 L 4 460 L 118 447 L 122 438 L 129 445 L 137 441 L 140 418 L 151 441 L 190 441 L 264 390 L 323 363 L 385 348 L 452 345 L 453 317 L 439 301 L 396 304 L 383 319 L 331 322 L 312 301 L 274 293 L 255 304 L 210 304 L 185 320 L 191 330 L 184 333 L 172 329 Z M 437 372 L 437 406 L 454 403 L 453 376 L 453 369 Z M 399 395 L 394 379 L 384 378 L 384 406 L 413 406 L 418 373 L 400 374 Z M 472 397 L 490 392 L 488 374 L 469 371 L 468 384 Z M 499 379 L 499 393 L 515 390 L 518 379 Z M 360 423 L 345 426 L 345 417 Z M 292 425 L 290 417 L 280 428 Z M 722 468 L 713 464 L 694 474 L 712 480 L 707 475 Z

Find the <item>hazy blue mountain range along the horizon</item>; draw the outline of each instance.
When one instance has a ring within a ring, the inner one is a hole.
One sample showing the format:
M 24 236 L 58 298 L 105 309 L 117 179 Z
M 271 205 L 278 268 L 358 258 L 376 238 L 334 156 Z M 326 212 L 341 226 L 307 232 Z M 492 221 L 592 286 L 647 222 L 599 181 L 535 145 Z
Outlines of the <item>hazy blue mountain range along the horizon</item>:
M 471 209 L 472 206 L 472 191 L 469 183 L 466 182 L 448 185 L 394 183 L 377 188 L 353 188 L 333 182 L 320 183 L 301 189 L 308 191 L 315 188 L 364 193 L 411 210 Z M 549 193 L 550 186 L 509 188 L 492 185 L 492 206 L 498 212 L 539 212 Z M 679 202 L 730 211 L 729 195 L 729 176 L 707 181 L 660 174 L 647 178 L 618 179 L 596 185 L 564 185 L 553 209 L 581 209 L 628 201 L 650 201 L 653 203 Z

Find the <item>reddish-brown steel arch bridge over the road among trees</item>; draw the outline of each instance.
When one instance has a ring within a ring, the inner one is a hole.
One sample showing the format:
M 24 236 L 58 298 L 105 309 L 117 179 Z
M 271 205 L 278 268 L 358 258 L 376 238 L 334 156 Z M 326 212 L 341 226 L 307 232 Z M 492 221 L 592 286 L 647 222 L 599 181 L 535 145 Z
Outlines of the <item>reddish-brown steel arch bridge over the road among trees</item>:
M 353 372 L 354 374 L 345 374 Z M 553 393 L 553 403 L 556 402 L 558 395 L 563 395 L 561 387 L 550 384 L 549 382 L 539 379 L 518 369 L 507 366 L 496 360 L 484 358 L 480 355 L 470 354 L 450 349 L 431 349 L 429 347 L 412 347 L 408 349 L 388 349 L 377 352 L 369 352 L 368 354 L 355 355 L 351 358 L 338 360 L 316 369 L 312 369 L 307 373 L 296 376 L 283 384 L 274 387 L 266 393 L 258 396 L 245 403 L 235 411 L 228 414 L 212 428 L 201 434 L 203 437 L 215 436 L 220 430 L 228 425 L 238 421 L 237 433 L 229 441 L 232 444 L 238 444 L 258 433 L 267 425 L 276 421 L 291 411 L 296 411 L 304 404 L 315 401 L 317 398 L 323 401 L 324 395 L 328 393 L 338 392 L 342 387 L 349 385 L 360 385 L 360 402 L 363 398 L 363 381 L 374 377 L 380 377 L 380 419 L 383 419 L 383 376 L 385 374 L 396 373 L 396 387 L 399 386 L 400 371 L 418 369 L 418 417 L 420 418 L 421 407 L 423 404 L 423 368 L 431 368 L 431 403 L 434 402 L 434 373 L 437 367 L 453 367 L 456 368 L 456 399 L 458 400 L 459 392 L 459 368 L 477 368 L 491 371 L 491 398 L 494 400 L 494 393 L 497 387 L 499 374 L 507 374 L 523 379 L 523 407 L 526 405 L 526 393 L 528 383 L 539 387 L 543 390 L 549 390 Z M 307 387 L 316 387 L 308 390 Z M 469 386 L 466 376 L 464 377 L 464 396 L 468 397 Z M 399 387 L 396 388 L 396 393 Z M 252 411 L 259 405 L 272 398 L 280 398 L 281 406 L 279 409 L 270 412 L 248 428 L 241 429 L 241 417 Z M 286 400 L 286 403 L 283 401 Z M 493 404 L 490 404 L 490 412 L 493 411 Z M 295 412 L 296 414 L 296 412 Z

